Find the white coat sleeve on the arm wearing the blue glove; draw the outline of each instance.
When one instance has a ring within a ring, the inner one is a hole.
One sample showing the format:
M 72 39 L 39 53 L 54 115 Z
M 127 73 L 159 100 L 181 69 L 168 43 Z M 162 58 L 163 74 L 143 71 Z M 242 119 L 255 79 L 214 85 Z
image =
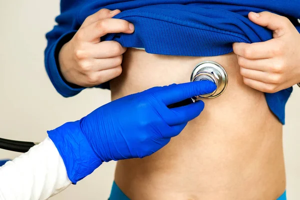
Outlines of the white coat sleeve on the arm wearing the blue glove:
M 1 200 L 47 199 L 70 183 L 62 158 L 49 137 L 0 167 Z

